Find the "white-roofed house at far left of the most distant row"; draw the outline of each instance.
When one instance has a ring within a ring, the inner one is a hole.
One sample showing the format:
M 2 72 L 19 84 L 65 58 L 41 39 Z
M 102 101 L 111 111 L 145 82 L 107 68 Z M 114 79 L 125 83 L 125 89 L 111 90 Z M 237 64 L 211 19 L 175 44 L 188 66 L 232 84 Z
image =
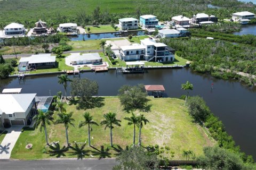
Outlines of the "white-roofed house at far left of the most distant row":
M 19 24 L 19 23 L 11 23 L 9 25 L 6 25 L 6 27 L 4 27 L 4 32 L 5 35 L 7 36 L 20 36 L 23 35 L 25 33 L 25 28 L 24 25 Z

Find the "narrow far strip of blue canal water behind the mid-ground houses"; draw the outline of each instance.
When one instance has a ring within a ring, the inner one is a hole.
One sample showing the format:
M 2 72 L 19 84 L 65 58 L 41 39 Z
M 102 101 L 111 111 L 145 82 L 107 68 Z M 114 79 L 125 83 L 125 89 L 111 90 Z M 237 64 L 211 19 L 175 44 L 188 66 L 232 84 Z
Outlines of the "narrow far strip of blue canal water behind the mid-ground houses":
M 102 38 L 118 38 L 118 37 L 128 37 L 129 35 L 133 36 L 143 36 L 145 31 L 129 31 L 129 32 L 112 32 L 112 33 L 91 33 L 91 34 L 79 34 L 77 36 L 69 36 L 71 41 L 78 40 L 93 40 L 93 39 L 102 39 Z

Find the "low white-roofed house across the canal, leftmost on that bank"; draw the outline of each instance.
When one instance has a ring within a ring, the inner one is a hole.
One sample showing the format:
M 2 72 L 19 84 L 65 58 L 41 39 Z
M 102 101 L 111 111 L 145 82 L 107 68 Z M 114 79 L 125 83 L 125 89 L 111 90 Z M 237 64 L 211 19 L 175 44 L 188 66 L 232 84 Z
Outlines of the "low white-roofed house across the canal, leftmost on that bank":
M 56 56 L 51 54 L 37 54 L 30 57 L 21 57 L 18 65 L 19 71 L 27 71 L 31 69 L 43 69 L 55 67 Z

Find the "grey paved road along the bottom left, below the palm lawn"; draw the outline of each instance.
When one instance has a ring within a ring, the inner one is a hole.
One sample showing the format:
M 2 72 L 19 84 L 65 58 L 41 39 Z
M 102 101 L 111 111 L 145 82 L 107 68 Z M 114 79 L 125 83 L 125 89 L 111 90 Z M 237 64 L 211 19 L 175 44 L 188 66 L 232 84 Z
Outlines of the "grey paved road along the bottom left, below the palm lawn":
M 116 165 L 115 159 L 53 159 L 53 160 L 0 160 L 1 170 L 72 170 L 72 169 L 87 169 L 87 170 L 111 170 Z

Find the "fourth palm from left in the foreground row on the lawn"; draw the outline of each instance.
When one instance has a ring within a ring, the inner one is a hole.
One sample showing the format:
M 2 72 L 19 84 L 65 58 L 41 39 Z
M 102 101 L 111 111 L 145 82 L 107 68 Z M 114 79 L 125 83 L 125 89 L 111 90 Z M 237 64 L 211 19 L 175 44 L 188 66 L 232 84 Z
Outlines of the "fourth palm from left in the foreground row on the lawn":
M 105 118 L 105 120 L 101 121 L 100 124 L 106 125 L 105 130 L 106 128 L 110 128 L 110 145 L 111 147 L 113 147 L 113 140 L 112 140 L 112 129 L 114 128 L 113 125 L 121 126 L 121 124 L 119 124 L 119 122 L 121 121 L 116 119 L 116 113 L 109 112 L 107 114 L 104 114 L 103 117 Z

